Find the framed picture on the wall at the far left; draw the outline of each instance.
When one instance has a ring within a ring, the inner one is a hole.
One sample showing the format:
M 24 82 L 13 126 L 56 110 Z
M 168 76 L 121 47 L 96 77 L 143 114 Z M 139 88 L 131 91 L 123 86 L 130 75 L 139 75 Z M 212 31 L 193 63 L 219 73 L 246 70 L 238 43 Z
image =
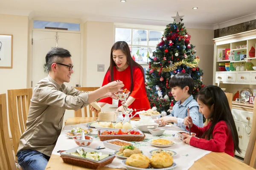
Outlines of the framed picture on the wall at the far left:
M 12 35 L 0 34 L 0 68 L 12 68 Z

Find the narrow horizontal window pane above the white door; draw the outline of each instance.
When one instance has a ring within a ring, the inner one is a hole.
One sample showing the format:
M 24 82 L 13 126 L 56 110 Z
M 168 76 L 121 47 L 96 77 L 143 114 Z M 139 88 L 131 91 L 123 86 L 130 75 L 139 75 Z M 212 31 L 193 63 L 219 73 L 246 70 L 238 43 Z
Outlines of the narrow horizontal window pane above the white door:
M 33 28 L 80 31 L 80 24 L 34 20 Z

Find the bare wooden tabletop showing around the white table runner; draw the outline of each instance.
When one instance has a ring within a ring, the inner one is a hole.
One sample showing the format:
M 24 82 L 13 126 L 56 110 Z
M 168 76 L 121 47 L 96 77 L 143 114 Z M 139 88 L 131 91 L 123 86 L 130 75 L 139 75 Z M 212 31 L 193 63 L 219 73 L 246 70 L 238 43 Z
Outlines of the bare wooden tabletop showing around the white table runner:
M 132 118 L 138 120 L 140 118 Z M 66 120 L 65 125 L 77 125 L 96 121 L 96 117 L 73 117 Z M 125 170 L 125 168 L 121 168 Z M 64 163 L 60 156 L 52 154 L 46 170 L 89 170 L 73 164 Z M 120 170 L 120 168 L 102 167 L 99 170 Z M 210 152 L 201 157 L 189 170 L 255 170 L 227 153 Z

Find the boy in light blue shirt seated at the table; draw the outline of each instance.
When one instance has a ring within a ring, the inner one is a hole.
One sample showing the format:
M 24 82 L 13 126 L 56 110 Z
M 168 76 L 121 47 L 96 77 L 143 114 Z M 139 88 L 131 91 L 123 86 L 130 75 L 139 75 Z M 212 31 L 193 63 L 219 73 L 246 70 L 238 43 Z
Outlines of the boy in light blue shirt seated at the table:
M 186 116 L 192 117 L 193 123 L 199 127 L 203 127 L 203 116 L 198 112 L 198 103 L 193 99 L 192 91 L 195 87 L 194 80 L 189 74 L 179 73 L 171 78 L 169 86 L 172 89 L 172 96 L 177 101 L 173 106 L 172 112 L 168 116 L 161 117 L 157 123 L 161 121 L 161 125 L 165 126 L 169 122 L 173 122 L 182 130 L 186 130 L 183 121 Z

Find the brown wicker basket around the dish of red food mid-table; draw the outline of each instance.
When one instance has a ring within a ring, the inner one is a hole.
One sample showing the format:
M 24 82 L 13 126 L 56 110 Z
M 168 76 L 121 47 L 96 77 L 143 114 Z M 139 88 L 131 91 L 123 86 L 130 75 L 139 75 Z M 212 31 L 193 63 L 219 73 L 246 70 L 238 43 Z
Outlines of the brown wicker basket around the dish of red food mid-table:
M 127 142 L 131 142 L 131 141 L 136 141 L 136 142 L 140 142 L 143 141 L 145 138 L 145 134 L 144 136 L 128 136 L 128 135 L 99 135 L 98 132 L 98 136 L 100 141 L 106 141 L 106 140 L 111 140 L 111 139 L 120 139 L 123 141 L 127 141 Z

